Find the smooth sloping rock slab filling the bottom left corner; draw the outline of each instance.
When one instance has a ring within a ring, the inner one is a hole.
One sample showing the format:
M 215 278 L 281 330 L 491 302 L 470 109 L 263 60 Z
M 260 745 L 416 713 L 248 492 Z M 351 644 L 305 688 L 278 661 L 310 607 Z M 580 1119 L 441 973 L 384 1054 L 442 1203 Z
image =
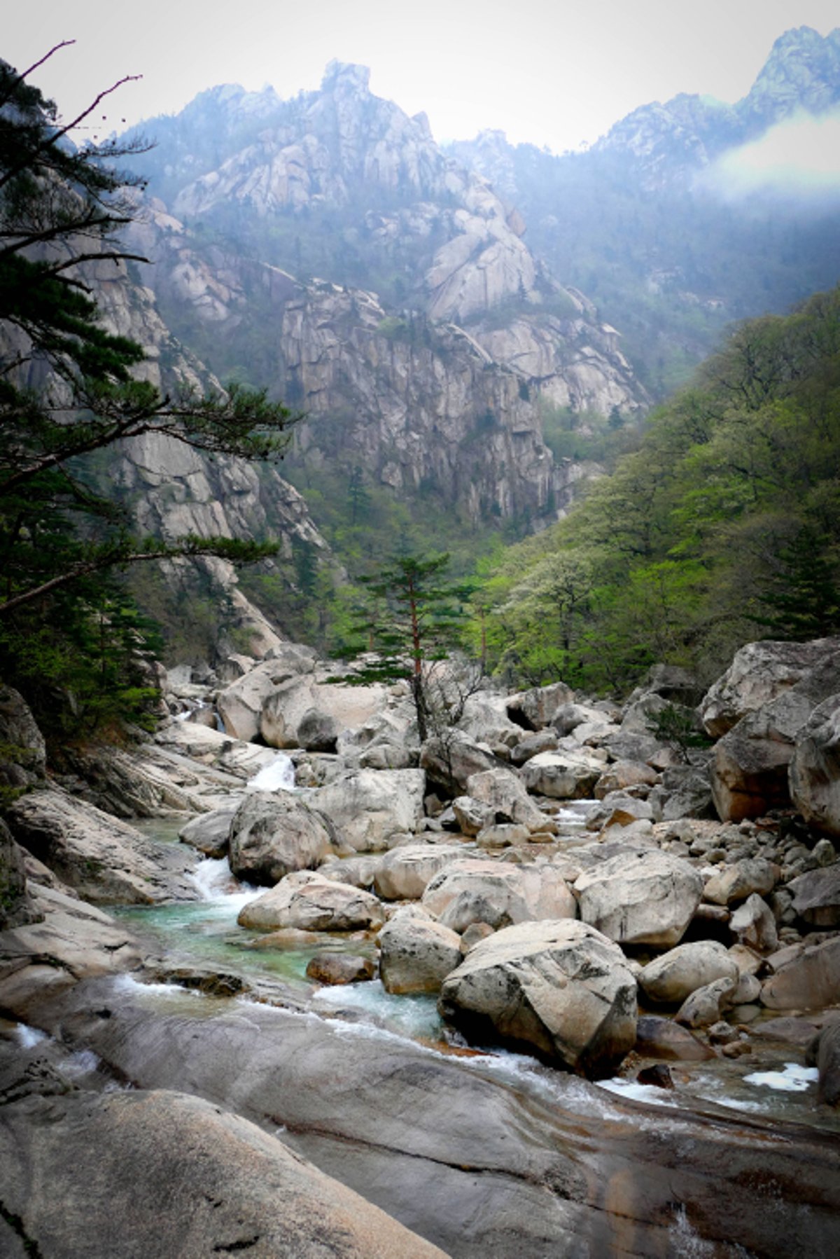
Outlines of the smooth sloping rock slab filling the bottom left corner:
M 0 1238 L 9 1255 L 443 1255 L 256 1124 L 185 1093 L 14 1102 L 0 1163 L 18 1230 Z

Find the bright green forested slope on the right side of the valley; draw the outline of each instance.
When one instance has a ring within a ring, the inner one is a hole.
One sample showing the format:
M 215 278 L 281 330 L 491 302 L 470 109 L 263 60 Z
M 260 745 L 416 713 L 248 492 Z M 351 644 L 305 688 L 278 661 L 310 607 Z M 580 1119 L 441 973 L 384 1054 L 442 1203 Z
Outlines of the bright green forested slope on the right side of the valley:
M 613 691 L 657 660 L 710 679 L 762 632 L 836 633 L 840 291 L 738 326 L 474 606 L 491 667 Z

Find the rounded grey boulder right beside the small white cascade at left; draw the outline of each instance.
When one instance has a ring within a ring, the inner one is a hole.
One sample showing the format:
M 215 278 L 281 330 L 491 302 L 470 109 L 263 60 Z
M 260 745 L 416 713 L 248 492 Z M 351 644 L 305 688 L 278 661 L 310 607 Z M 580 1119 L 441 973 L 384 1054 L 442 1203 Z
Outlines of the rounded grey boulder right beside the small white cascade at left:
M 330 832 L 288 792 L 252 792 L 229 823 L 229 861 L 238 879 L 276 884 L 293 870 L 312 870 L 332 852 Z

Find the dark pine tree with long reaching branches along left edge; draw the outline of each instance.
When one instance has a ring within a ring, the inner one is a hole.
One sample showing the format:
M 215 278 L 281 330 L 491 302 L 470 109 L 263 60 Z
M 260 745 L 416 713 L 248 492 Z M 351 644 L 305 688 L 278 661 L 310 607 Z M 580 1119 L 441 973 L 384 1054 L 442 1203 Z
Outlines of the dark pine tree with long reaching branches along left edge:
M 28 82 L 64 47 L 24 73 L 0 62 L 0 670 L 25 672 L 29 647 L 43 642 L 57 679 L 73 672 L 58 662 L 68 653 L 83 661 L 93 637 L 127 642 L 118 626 L 131 617 L 116 572 L 208 554 L 247 563 L 276 550 L 266 541 L 136 536 L 91 457 L 161 433 L 210 456 L 276 458 L 297 418 L 264 392 L 178 383 L 164 392 L 136 379 L 144 350 L 103 325 L 96 278 L 107 267 L 127 282 L 127 266 L 145 262 L 118 238 L 142 181 L 115 162 L 147 145 L 73 142 L 126 81 L 64 122 Z

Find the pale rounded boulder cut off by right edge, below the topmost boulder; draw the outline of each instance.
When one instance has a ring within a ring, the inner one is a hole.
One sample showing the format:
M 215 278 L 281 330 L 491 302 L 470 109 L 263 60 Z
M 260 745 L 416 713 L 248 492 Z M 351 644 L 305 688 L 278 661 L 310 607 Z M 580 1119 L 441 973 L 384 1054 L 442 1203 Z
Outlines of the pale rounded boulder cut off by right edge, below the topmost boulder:
M 840 695 L 819 704 L 798 731 L 790 789 L 809 826 L 840 836 Z

